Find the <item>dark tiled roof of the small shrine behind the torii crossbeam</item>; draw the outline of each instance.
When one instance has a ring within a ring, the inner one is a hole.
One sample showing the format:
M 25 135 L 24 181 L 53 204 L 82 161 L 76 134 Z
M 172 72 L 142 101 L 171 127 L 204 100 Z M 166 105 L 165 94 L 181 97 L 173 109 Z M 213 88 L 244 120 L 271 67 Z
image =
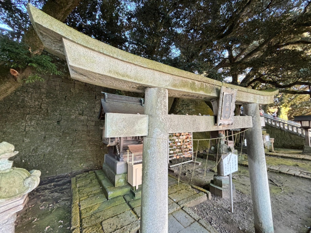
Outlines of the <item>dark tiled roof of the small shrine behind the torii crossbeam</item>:
M 101 108 L 98 119 L 104 120 L 105 113 L 144 114 L 144 99 L 114 95 L 102 92 Z

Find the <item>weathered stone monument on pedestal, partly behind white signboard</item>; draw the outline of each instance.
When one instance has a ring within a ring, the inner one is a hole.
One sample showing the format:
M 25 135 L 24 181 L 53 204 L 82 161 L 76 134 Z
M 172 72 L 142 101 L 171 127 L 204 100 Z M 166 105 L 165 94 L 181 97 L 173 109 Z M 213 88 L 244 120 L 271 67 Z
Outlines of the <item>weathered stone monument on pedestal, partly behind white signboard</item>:
M 231 150 L 231 148 L 225 144 L 224 134 L 219 133 L 218 137 L 220 137 L 220 140 L 218 144 L 212 148 L 212 151 L 215 153 L 215 156 L 218 156 L 217 161 L 219 161 L 219 163 L 217 164 L 217 175 L 214 175 L 213 180 L 210 181 L 209 191 L 224 199 L 229 199 L 229 177 L 224 169 L 224 161 L 228 156 L 230 157 L 231 154 L 237 153 L 237 150 Z M 234 184 L 232 184 L 232 193 L 233 197 L 235 197 Z

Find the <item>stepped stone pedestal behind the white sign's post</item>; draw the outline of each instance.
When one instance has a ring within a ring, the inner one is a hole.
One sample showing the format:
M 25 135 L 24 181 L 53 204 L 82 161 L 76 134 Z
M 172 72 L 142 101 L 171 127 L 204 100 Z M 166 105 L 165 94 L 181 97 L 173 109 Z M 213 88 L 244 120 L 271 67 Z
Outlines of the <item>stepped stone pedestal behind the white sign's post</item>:
M 215 194 L 221 198 L 230 199 L 229 191 L 229 177 L 214 175 L 214 179 L 210 181 L 209 192 Z M 235 198 L 235 186 L 232 183 L 232 195 Z

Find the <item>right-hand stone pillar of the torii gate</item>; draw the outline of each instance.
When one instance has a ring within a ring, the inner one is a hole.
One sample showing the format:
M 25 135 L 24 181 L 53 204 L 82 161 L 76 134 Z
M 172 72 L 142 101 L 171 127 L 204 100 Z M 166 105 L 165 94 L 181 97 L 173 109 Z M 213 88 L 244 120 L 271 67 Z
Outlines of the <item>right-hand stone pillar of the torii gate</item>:
M 263 148 L 259 105 L 246 104 L 245 114 L 253 117 L 253 128 L 245 132 L 249 178 L 254 209 L 255 233 L 273 233 L 272 211 L 266 160 Z

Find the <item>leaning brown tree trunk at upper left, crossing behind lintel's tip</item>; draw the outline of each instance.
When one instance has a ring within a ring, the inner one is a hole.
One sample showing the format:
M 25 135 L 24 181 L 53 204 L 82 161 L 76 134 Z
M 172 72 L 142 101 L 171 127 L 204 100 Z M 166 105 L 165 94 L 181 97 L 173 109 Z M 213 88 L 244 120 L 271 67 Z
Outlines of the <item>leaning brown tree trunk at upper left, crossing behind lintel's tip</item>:
M 76 8 L 81 0 L 48 0 L 43 6 L 42 11 L 48 15 L 58 19 L 59 21 L 65 21 L 70 12 Z M 41 54 L 44 50 L 44 46 L 39 39 L 33 26 L 30 26 L 25 32 L 24 42 L 31 47 L 34 54 Z M 27 78 L 31 74 L 30 68 L 26 68 L 20 75 L 20 79 Z M 20 85 L 22 81 L 17 82 L 13 76 L 0 78 L 0 100 L 3 100 L 6 96 L 13 93 Z

